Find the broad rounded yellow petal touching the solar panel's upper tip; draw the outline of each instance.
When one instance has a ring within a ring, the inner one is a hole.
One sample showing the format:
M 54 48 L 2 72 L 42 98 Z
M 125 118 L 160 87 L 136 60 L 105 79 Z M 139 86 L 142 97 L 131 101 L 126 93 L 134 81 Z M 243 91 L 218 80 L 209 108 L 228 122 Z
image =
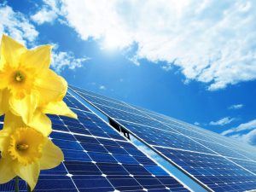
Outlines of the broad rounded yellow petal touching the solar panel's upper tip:
M 35 79 L 35 87 L 40 94 L 39 106 L 61 101 L 67 93 L 67 82 L 52 70 L 43 70 Z

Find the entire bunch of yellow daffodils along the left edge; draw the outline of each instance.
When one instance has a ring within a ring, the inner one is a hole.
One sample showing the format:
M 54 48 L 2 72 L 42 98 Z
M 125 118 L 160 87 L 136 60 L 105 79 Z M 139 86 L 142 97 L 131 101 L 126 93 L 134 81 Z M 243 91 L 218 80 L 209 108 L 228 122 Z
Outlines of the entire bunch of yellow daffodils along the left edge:
M 49 69 L 50 45 L 26 49 L 3 35 L 0 49 L 0 183 L 19 178 L 33 190 L 40 170 L 58 166 L 64 156 L 49 140 L 51 121 L 46 113 L 77 118 L 62 101 L 67 82 Z

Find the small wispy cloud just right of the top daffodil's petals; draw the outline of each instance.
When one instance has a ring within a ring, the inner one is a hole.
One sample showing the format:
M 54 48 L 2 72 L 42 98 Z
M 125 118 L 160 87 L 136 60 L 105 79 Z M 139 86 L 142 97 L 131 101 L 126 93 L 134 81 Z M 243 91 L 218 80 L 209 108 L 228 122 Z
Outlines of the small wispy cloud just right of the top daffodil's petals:
M 56 51 L 52 52 L 52 61 L 51 67 L 55 69 L 57 73 L 61 73 L 61 71 L 67 67 L 69 69 L 75 69 L 83 66 L 84 61 L 88 61 L 90 58 L 82 57 L 76 58 L 72 52 L 65 51 Z

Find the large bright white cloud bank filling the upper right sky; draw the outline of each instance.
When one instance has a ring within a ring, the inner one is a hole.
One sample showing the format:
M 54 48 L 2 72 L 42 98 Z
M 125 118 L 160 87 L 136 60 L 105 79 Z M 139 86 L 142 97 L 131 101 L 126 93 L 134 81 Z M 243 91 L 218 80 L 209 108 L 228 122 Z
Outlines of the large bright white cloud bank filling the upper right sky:
M 219 90 L 256 79 L 253 0 L 61 0 L 60 7 L 82 39 L 120 49 L 137 44 L 134 61 L 172 63 L 185 82 Z

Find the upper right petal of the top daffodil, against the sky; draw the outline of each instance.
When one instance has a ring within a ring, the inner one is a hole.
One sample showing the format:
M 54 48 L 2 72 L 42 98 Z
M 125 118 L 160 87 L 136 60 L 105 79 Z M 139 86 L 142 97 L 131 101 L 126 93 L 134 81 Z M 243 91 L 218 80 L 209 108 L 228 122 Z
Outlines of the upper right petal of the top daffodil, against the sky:
M 32 67 L 36 73 L 41 73 L 44 68 L 49 68 L 51 48 L 49 44 L 45 44 L 36 49 L 27 50 L 21 56 L 21 65 Z

